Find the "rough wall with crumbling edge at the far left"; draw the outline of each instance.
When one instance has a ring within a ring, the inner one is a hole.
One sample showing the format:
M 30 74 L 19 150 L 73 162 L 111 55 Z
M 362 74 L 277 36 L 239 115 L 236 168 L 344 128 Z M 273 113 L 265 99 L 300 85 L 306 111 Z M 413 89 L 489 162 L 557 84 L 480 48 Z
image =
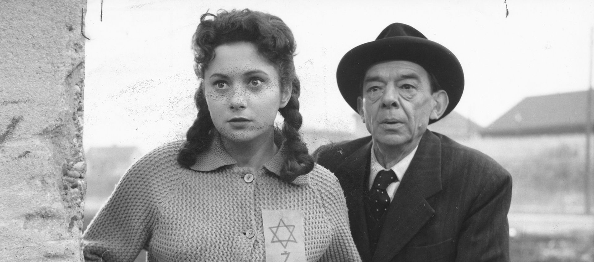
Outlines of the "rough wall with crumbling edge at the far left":
M 85 6 L 0 1 L 2 261 L 83 261 Z

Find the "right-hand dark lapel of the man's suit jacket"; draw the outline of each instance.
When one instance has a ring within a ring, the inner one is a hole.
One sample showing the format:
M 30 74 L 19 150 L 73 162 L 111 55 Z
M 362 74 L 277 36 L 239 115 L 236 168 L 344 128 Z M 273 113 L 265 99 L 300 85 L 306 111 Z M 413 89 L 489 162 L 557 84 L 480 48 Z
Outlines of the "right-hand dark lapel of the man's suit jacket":
M 441 191 L 440 139 L 427 130 L 390 203 L 372 261 L 390 261 L 434 215 L 425 200 Z

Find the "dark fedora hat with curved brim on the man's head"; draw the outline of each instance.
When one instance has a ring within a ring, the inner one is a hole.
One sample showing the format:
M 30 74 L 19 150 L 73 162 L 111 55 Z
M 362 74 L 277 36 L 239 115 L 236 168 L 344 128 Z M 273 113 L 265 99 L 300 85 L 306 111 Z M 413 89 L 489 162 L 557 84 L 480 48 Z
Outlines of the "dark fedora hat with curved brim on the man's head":
M 464 72 L 456 56 L 412 26 L 394 23 L 381 31 L 375 41 L 350 49 L 340 60 L 336 70 L 338 87 L 355 112 L 358 112 L 357 97 L 362 92 L 365 72 L 378 62 L 393 60 L 413 62 L 435 75 L 450 100 L 441 118 L 456 107 L 464 90 Z M 437 120 L 431 120 L 429 124 Z

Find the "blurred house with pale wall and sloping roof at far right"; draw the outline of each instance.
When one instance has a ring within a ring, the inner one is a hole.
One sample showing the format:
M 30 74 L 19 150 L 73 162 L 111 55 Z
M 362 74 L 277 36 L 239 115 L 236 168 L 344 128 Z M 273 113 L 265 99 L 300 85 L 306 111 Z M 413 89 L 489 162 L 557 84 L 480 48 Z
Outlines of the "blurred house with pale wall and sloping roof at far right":
M 586 210 L 587 94 L 526 97 L 484 128 L 483 138 L 472 144 L 513 176 L 512 212 Z

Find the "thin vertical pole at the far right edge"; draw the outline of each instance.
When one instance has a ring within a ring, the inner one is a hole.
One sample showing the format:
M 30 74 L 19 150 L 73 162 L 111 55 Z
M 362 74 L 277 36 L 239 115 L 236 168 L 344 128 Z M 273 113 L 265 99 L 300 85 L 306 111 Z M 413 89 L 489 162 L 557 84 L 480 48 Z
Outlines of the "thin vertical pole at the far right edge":
M 590 28 L 590 77 L 588 81 L 586 108 L 586 163 L 584 169 L 584 212 L 592 214 L 592 189 L 590 187 L 590 134 L 592 133 L 592 49 L 594 49 L 594 27 Z

